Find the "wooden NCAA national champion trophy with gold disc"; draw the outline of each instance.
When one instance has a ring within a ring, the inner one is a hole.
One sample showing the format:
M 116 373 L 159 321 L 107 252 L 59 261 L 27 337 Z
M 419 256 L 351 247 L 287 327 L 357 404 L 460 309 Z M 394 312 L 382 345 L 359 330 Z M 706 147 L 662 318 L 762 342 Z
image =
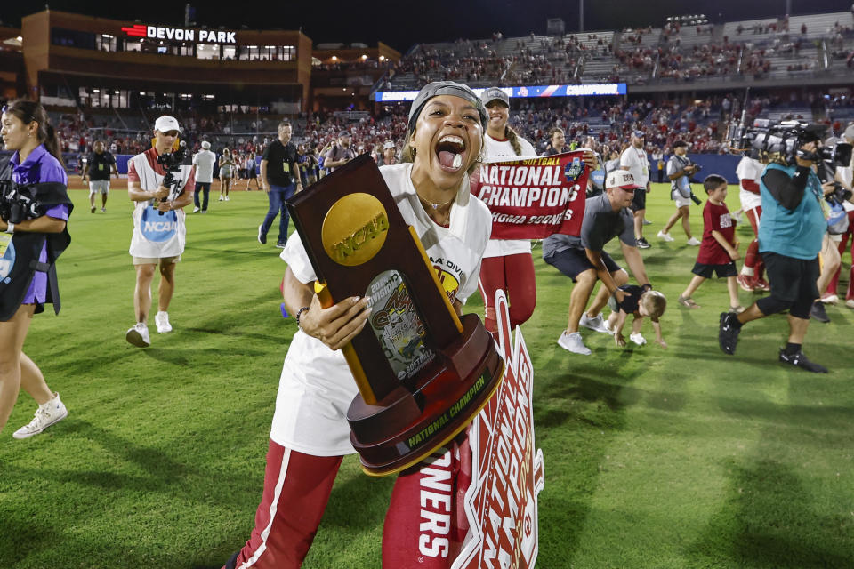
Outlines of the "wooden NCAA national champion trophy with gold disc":
M 347 420 L 362 469 L 375 477 L 407 469 L 471 422 L 501 382 L 504 360 L 477 315 L 457 317 L 370 156 L 287 208 L 321 304 L 371 297 L 367 325 L 342 349 L 359 387 Z

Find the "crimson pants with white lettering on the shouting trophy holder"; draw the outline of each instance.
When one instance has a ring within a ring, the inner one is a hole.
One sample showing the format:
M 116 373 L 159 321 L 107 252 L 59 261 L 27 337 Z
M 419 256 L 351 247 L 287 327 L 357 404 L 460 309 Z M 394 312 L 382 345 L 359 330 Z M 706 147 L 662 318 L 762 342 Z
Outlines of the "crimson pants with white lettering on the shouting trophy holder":
M 468 439 L 439 448 L 395 481 L 383 526 L 383 567 L 447 569 L 468 523 Z M 462 458 L 461 458 L 462 457 Z M 299 569 L 318 532 L 341 456 L 299 453 L 272 440 L 264 490 L 249 541 L 223 569 Z

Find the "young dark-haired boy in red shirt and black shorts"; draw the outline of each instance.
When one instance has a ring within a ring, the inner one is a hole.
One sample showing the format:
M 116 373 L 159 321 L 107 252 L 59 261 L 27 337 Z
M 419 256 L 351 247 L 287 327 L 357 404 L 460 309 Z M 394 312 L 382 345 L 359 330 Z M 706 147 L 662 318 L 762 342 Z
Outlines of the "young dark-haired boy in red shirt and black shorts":
M 727 180 L 717 174 L 706 176 L 703 188 L 709 201 L 703 208 L 703 241 L 697 253 L 697 262 L 691 270 L 694 278 L 688 288 L 676 299 L 682 306 L 698 309 L 700 305 L 691 298 L 691 294 L 703 284 L 705 279 L 716 273 L 718 278 L 727 278 L 729 290 L 729 310 L 741 312 L 744 308 L 738 304 L 738 284 L 736 281 L 738 260 L 738 242 L 736 240 L 736 222 L 729 214 L 727 204 Z

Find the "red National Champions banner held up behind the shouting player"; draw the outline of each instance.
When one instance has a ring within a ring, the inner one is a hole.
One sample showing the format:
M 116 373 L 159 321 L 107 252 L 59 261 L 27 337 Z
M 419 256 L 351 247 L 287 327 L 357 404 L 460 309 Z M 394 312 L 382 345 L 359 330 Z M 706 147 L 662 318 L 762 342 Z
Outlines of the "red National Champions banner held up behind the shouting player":
M 471 193 L 492 212 L 493 239 L 580 235 L 590 169 L 584 152 L 480 164 Z

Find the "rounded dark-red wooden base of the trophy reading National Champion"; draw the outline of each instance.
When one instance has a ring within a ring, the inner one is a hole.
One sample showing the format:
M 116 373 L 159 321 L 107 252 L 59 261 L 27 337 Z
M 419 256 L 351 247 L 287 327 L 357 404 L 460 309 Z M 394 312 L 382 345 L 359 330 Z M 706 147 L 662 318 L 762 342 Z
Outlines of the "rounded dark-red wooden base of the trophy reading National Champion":
M 504 377 L 495 340 L 473 314 L 461 318 L 463 333 L 440 350 L 437 365 L 409 391 L 400 386 L 376 405 L 361 394 L 347 412 L 350 442 L 362 469 L 383 477 L 414 466 L 465 429 Z

